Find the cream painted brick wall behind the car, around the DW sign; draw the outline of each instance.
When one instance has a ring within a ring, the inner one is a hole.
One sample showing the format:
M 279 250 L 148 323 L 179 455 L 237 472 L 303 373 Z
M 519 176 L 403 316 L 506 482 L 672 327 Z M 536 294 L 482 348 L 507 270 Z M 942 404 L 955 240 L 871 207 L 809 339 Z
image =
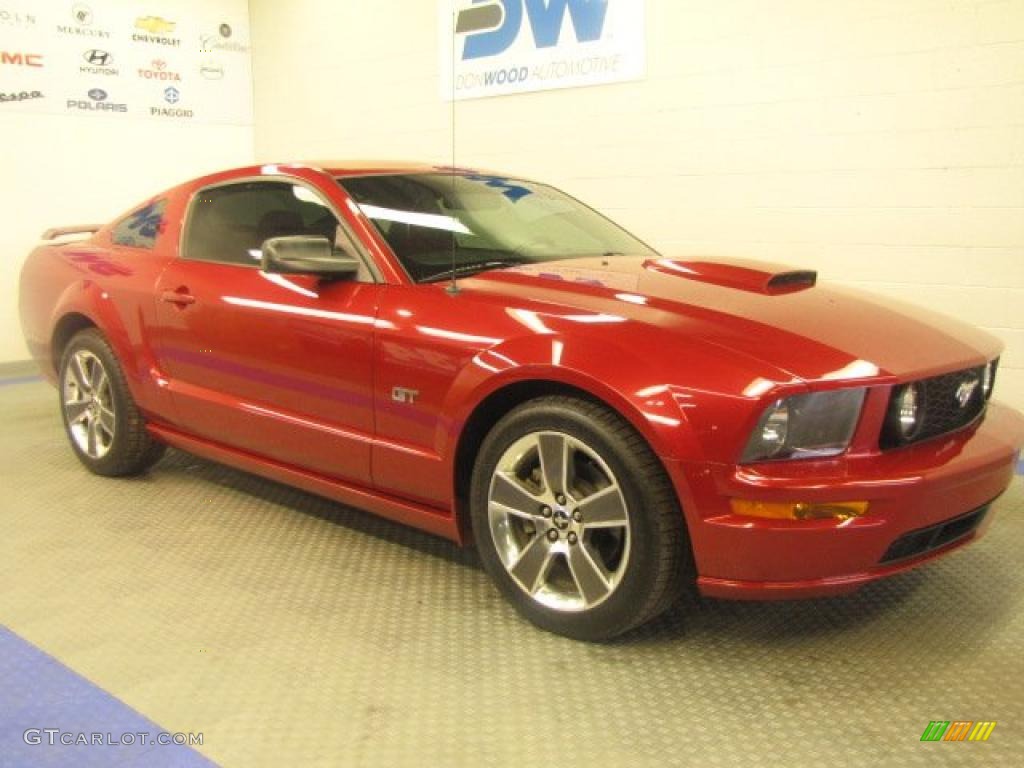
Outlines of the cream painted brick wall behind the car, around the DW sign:
M 435 2 L 251 8 L 261 160 L 450 161 Z M 791 261 L 987 328 L 1024 409 L 1024 0 L 648 0 L 647 19 L 646 80 L 460 102 L 458 161 L 666 252 Z

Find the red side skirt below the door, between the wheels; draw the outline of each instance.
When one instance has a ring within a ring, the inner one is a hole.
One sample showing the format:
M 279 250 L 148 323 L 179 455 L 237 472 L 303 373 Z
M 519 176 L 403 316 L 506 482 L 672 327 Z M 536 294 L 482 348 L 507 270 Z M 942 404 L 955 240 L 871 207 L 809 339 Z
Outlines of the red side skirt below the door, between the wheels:
M 267 477 L 286 485 L 326 497 L 356 509 L 372 512 L 403 525 L 463 544 L 459 525 L 451 512 L 397 499 L 358 485 L 350 485 L 313 472 L 280 464 L 253 454 L 227 447 L 178 432 L 169 427 L 148 424 L 148 432 L 158 440 L 204 459 Z

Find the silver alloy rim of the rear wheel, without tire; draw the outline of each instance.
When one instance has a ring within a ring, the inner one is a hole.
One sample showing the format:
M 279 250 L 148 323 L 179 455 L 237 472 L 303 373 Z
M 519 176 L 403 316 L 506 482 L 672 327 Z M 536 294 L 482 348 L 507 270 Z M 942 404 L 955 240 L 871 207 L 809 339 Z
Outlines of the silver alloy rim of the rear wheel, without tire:
M 71 356 L 63 375 L 61 403 L 68 431 L 79 450 L 91 459 L 106 456 L 114 443 L 117 418 L 110 377 L 92 352 L 80 349 Z

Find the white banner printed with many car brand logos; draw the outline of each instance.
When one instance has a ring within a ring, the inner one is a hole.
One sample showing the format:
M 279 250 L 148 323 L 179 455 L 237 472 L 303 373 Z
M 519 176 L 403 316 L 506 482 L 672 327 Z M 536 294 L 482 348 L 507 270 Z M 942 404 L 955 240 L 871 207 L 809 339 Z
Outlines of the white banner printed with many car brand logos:
M 0 0 L 0 114 L 252 125 L 246 0 Z

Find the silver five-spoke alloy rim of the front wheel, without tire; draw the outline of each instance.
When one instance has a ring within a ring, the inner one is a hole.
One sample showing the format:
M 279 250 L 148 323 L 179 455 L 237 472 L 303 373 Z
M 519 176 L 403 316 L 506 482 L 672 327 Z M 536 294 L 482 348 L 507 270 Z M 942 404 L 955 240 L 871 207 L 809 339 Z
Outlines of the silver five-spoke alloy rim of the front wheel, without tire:
M 509 575 L 555 610 L 604 602 L 629 564 L 622 487 L 594 449 L 563 432 L 532 432 L 505 451 L 490 478 L 487 520 Z

